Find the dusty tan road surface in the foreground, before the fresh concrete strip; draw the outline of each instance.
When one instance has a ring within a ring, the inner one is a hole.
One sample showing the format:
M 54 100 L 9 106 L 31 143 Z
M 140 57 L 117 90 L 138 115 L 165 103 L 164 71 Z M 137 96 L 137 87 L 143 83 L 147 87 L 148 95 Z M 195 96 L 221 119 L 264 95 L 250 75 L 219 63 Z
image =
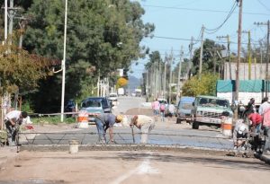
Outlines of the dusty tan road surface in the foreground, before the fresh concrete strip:
M 24 151 L 0 165 L 1 184 L 252 184 L 269 174 L 256 159 L 182 152 Z

